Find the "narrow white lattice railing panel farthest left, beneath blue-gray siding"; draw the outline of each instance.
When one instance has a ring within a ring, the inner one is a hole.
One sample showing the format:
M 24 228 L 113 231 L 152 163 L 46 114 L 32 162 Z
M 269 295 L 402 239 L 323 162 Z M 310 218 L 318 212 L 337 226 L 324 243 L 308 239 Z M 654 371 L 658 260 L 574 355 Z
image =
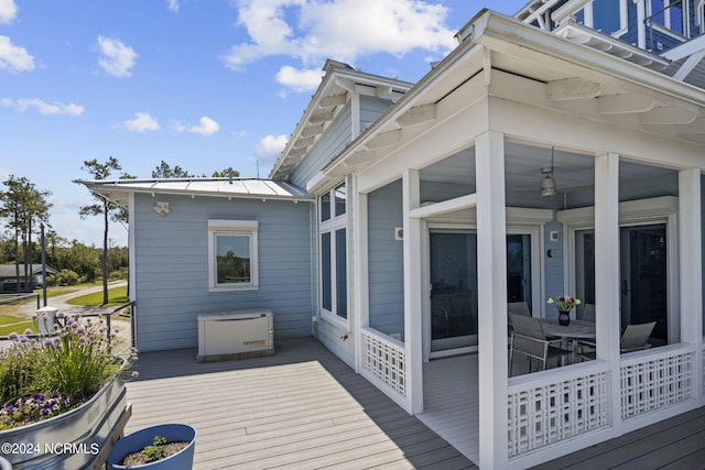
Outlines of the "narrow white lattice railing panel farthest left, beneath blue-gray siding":
M 372 328 L 362 328 L 362 371 L 397 402 L 406 396 L 404 343 Z

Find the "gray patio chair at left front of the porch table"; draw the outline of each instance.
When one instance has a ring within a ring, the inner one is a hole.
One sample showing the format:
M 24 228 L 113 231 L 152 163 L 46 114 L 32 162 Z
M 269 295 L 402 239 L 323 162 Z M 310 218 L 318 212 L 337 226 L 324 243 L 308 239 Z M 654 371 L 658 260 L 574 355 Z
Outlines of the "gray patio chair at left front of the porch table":
M 542 370 L 546 369 L 546 362 L 550 359 L 561 358 L 561 363 L 565 362 L 565 357 L 571 354 L 571 351 L 551 343 L 551 339 L 543 332 L 539 318 L 517 314 L 509 314 L 509 316 L 513 326 L 509 349 L 509 375 L 512 375 L 516 353 L 529 358 L 529 372 L 531 372 L 532 359 L 540 361 Z

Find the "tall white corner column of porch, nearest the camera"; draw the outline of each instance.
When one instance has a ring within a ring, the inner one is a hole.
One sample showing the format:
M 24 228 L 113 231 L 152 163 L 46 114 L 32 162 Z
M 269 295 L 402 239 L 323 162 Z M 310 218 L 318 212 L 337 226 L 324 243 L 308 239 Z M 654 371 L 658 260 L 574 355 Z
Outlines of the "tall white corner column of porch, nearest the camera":
M 505 136 L 489 131 L 475 141 L 477 184 L 477 291 L 479 418 L 482 469 L 508 466 L 507 428 L 507 221 Z

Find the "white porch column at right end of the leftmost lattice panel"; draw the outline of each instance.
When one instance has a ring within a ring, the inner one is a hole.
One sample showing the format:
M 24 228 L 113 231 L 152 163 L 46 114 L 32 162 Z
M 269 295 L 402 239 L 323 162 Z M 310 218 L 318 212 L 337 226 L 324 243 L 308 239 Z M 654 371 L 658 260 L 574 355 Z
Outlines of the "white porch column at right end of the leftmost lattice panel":
M 404 251 L 404 356 L 406 358 L 406 412 L 423 412 L 423 286 L 421 272 L 421 220 L 409 216 L 420 206 L 419 172 L 402 176 Z

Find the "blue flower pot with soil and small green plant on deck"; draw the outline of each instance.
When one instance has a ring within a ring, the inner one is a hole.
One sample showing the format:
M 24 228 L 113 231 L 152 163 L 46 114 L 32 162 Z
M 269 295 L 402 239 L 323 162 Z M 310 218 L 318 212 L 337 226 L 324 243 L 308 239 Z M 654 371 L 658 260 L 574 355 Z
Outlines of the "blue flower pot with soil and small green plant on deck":
M 106 463 L 110 470 L 191 470 L 195 446 L 196 429 L 186 424 L 150 426 L 118 440 Z

